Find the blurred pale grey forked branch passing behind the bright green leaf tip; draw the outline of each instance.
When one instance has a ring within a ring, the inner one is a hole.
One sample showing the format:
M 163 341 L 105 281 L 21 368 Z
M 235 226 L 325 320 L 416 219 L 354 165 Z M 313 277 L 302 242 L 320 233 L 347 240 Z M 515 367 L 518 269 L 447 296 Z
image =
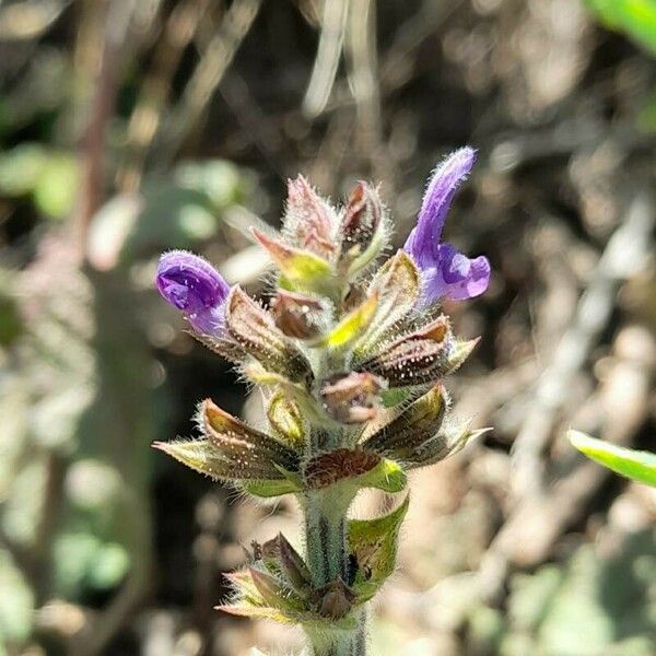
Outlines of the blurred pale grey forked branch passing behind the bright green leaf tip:
M 576 372 L 589 356 L 610 318 L 621 282 L 645 262 L 654 221 L 652 198 L 646 194 L 636 196 L 629 207 L 626 220 L 609 239 L 599 259 L 591 282 L 581 297 L 572 327 L 561 339 L 551 364 L 537 384 L 534 405 L 513 454 L 516 464 L 515 508 L 488 549 L 478 574 L 478 587 L 487 600 L 500 597 L 513 564 L 536 565 L 548 558 L 560 535 L 579 516 L 608 475 L 605 469 L 585 462 L 547 491 L 542 452 L 552 436 L 558 412 L 567 398 Z M 620 412 L 619 419 L 610 422 L 612 432 L 609 427 L 608 434 L 604 435 L 606 440 L 625 443 L 633 434 L 646 413 L 645 389 L 649 389 L 652 374 L 653 363 L 649 363 L 640 374 L 643 384 L 639 384 L 641 391 L 635 395 L 641 399 L 639 410 L 621 417 Z

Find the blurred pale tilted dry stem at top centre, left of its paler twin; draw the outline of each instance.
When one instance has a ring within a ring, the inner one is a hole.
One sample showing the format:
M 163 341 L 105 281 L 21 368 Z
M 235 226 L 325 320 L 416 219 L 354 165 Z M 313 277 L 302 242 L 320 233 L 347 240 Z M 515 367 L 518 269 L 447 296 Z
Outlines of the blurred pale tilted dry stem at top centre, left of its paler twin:
M 325 0 L 319 47 L 305 97 L 303 112 L 318 116 L 328 102 L 339 67 L 349 16 L 349 0 Z

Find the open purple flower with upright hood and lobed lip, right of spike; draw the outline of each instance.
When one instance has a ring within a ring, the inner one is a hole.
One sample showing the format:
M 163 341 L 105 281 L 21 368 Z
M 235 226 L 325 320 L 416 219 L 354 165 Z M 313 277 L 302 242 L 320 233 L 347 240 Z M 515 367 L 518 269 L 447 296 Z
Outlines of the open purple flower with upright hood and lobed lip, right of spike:
M 452 153 L 433 173 L 419 212 L 417 225 L 403 249 L 423 276 L 423 302 L 440 298 L 462 301 L 482 294 L 490 283 L 488 258 L 469 259 L 447 242 L 440 242 L 452 200 L 476 162 L 469 147 Z

